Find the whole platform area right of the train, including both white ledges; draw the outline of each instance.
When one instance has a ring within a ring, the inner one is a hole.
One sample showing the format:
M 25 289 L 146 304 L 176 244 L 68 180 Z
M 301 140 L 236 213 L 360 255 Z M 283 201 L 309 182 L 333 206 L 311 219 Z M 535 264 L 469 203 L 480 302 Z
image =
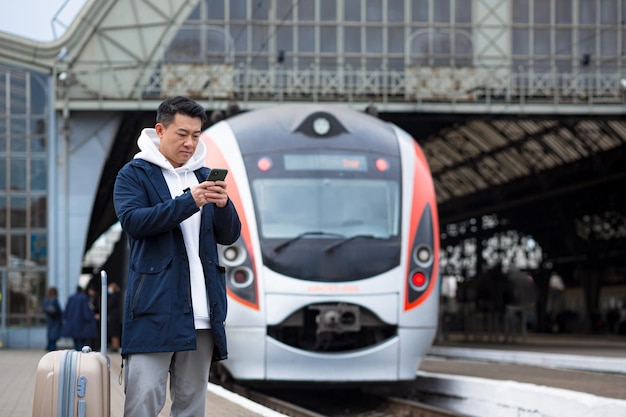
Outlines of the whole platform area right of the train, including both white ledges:
M 472 416 L 626 416 L 623 336 L 443 336 L 418 371 L 420 395 L 436 405 Z

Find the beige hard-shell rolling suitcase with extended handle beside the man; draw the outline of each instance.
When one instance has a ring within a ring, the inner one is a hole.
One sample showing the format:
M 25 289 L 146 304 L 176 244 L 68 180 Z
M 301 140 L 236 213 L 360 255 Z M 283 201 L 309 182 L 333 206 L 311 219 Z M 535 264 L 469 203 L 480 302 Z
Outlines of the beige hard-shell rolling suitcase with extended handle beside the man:
M 110 417 L 111 376 L 106 354 L 107 276 L 102 271 L 101 352 L 48 352 L 39 361 L 33 417 Z

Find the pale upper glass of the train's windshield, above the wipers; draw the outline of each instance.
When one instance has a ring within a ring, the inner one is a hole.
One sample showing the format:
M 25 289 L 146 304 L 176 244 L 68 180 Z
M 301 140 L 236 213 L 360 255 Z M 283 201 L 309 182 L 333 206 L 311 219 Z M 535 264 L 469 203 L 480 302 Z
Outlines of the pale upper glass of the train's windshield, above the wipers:
M 267 178 L 253 182 L 265 239 L 398 235 L 399 184 L 392 180 Z M 312 233 L 315 232 L 315 233 Z

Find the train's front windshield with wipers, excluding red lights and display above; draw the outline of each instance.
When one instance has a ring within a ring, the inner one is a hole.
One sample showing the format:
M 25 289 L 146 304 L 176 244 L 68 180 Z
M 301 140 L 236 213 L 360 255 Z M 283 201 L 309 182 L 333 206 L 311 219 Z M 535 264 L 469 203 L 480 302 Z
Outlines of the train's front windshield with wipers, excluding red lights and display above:
M 400 262 L 400 183 L 390 178 L 252 181 L 263 261 L 291 278 L 340 282 Z M 322 262 L 320 262 L 322 260 Z

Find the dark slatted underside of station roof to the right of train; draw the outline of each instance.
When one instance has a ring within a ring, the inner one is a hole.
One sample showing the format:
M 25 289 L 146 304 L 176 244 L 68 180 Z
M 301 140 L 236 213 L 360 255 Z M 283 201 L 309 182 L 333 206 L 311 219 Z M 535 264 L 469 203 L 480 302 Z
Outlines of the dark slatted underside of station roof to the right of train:
M 626 121 L 553 115 L 389 115 L 420 142 L 442 245 L 481 236 L 497 214 L 554 264 L 626 262 Z M 476 224 L 476 222 L 474 222 Z M 461 226 L 459 226 L 461 225 Z

